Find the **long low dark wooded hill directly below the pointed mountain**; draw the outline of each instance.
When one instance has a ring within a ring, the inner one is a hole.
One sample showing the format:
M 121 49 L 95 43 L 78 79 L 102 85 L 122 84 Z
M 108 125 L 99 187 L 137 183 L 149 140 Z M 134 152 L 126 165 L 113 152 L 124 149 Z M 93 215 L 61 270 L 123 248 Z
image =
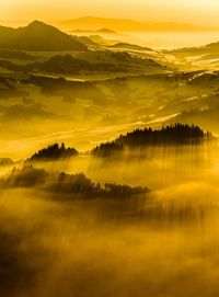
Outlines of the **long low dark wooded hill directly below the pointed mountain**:
M 43 62 L 16 65 L 10 60 L 0 59 L 0 67 L 13 71 L 43 71 L 49 73 L 73 75 L 80 71 L 126 72 L 154 69 L 164 71 L 165 67 L 152 59 L 134 57 L 126 52 L 111 50 L 87 52 L 85 55 L 58 55 Z

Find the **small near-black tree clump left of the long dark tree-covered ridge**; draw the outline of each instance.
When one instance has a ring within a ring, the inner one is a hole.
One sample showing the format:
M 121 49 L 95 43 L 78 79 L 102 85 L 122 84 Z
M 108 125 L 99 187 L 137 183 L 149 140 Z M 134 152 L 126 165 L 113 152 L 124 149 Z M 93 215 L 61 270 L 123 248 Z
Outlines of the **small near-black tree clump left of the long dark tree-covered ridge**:
M 41 160 L 58 160 L 64 158 L 71 158 L 78 156 L 78 151 L 74 148 L 66 148 L 65 144 L 60 146 L 54 144 L 47 148 L 41 149 L 34 153 L 27 161 L 41 161 Z

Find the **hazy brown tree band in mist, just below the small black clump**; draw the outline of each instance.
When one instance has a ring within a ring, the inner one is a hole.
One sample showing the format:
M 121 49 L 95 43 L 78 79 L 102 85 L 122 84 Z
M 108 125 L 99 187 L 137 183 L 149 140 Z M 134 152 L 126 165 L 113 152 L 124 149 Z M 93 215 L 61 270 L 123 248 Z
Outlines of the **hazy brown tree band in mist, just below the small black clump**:
M 48 192 L 62 194 L 79 194 L 82 197 L 130 197 L 134 195 L 143 195 L 149 193 L 148 187 L 131 187 L 128 185 L 118 185 L 115 183 L 93 183 L 83 173 L 53 174 L 44 169 L 36 169 L 32 165 L 22 169 L 13 169 L 7 179 L 0 180 L 0 186 L 5 189 L 13 187 L 37 187 Z

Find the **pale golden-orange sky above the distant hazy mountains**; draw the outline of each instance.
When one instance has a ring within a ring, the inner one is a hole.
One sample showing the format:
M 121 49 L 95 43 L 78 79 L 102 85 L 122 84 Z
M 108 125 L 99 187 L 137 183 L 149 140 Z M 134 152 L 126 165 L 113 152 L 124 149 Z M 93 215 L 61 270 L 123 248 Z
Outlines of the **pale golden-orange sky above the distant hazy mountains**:
M 1 20 L 60 20 L 84 15 L 145 22 L 219 25 L 219 0 L 3 0 Z

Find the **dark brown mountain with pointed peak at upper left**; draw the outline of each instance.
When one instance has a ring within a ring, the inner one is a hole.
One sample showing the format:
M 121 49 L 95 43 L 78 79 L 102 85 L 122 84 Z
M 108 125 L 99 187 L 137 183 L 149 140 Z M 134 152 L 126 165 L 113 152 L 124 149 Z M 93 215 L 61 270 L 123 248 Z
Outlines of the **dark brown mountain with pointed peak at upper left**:
M 0 26 L 0 47 L 33 52 L 88 49 L 72 36 L 39 21 L 18 28 Z

